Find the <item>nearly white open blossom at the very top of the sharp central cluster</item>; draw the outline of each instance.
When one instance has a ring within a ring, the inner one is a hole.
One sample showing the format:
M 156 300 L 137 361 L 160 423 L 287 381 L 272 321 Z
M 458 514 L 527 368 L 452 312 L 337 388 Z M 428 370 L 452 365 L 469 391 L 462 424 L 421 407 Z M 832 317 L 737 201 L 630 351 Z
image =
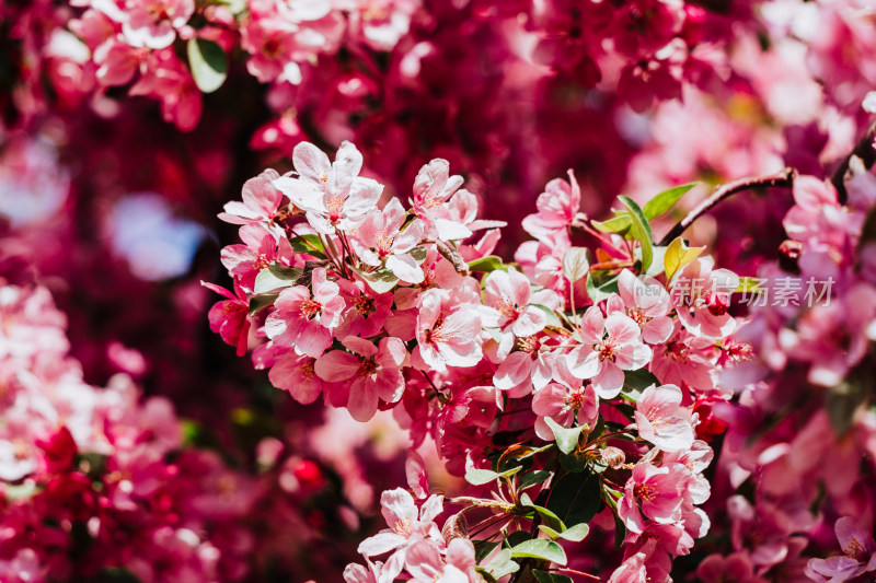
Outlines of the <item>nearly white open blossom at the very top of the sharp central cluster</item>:
M 280 176 L 274 186 L 307 212 L 308 222 L 318 232 L 355 229 L 377 208 L 383 186 L 358 175 L 362 155 L 351 143 L 342 143 L 331 163 L 319 148 L 301 142 L 295 147 L 292 160 L 299 177 Z

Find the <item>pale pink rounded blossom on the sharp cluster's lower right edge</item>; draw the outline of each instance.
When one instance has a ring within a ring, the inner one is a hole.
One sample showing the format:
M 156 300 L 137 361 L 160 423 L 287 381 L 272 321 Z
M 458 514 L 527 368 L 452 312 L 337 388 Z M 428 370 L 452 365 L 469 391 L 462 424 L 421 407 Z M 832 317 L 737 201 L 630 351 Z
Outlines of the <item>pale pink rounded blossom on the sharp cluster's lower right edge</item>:
M 681 452 L 693 444 L 693 422 L 689 409 L 681 407 L 681 389 L 676 385 L 652 385 L 636 403 L 636 429 L 642 439 L 664 452 Z

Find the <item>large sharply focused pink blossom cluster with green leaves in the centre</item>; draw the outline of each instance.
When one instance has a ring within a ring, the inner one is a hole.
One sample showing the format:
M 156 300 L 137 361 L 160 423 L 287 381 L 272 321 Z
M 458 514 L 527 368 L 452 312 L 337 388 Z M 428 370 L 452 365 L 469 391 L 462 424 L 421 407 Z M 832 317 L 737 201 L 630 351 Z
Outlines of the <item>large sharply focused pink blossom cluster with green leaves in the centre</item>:
M 393 409 L 415 444 L 435 441 L 451 473 L 495 482 L 507 502 L 487 540 L 523 534 L 521 516 L 533 528 L 544 520 L 549 538 L 562 539 L 611 509 L 618 536 L 625 533 L 613 581 L 668 580 L 671 557 L 708 528 L 698 505 L 708 498 L 702 471 L 712 450 L 695 404 L 726 397 L 718 372 L 746 358 L 728 312 L 739 278 L 681 240 L 656 246 L 630 199 L 613 223 L 580 217 L 574 176 L 539 198 L 525 221 L 535 241 L 515 266 L 489 255 L 502 223 L 477 219 L 477 199 L 443 160 L 420 168 L 408 210 L 397 198 L 378 203 L 382 186 L 359 176 L 362 158 L 349 142 L 334 162 L 301 143 L 293 161 L 295 173 L 249 180 L 243 201 L 221 214 L 240 225 L 243 243 L 222 252 L 234 293 L 206 284 L 227 298 L 210 311 L 212 329 L 239 353 L 252 348 L 256 365 L 298 401 L 322 396 L 360 421 Z M 603 260 L 591 264 L 572 245 L 573 226 L 601 238 Z M 519 448 L 500 446 L 506 432 Z M 591 512 L 574 524 L 555 516 L 580 512 L 575 497 L 551 494 L 564 479 L 590 488 Z M 545 497 L 552 510 L 541 515 L 532 500 Z M 391 530 L 360 551 L 397 550 L 348 569 L 348 579 L 474 573 L 471 543 L 442 538 L 433 523 L 439 499 L 419 515 L 401 491 L 384 493 L 383 504 Z M 511 546 L 511 557 L 535 540 Z

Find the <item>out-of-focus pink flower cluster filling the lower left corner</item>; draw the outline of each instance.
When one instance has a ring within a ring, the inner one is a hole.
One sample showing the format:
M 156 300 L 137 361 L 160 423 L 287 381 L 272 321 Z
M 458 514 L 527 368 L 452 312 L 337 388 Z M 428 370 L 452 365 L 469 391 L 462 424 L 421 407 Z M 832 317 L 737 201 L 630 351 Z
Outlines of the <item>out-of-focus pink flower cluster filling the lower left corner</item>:
M 254 483 L 214 453 L 183 448 L 166 398 L 139 404 L 120 374 L 106 388 L 85 384 L 46 289 L 3 283 L 0 320 L 3 580 L 245 572 L 244 549 L 223 537 L 240 534 Z

